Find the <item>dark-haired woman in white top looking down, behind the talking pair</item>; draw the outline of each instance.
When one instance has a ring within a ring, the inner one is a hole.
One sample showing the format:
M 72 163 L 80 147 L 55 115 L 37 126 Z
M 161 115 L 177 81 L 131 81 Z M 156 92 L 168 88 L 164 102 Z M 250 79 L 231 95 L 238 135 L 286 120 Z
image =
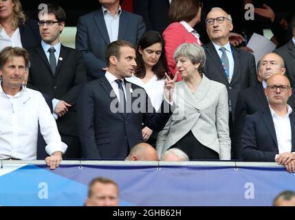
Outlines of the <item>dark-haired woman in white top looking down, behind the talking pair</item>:
M 163 100 L 163 91 L 165 85 L 165 73 L 168 72 L 166 56 L 163 52 L 164 40 L 159 32 L 145 32 L 136 48 L 137 67 L 133 76 L 126 78 L 130 83 L 143 87 L 146 94 L 149 95 L 154 109 L 160 109 Z M 149 140 L 153 131 L 145 126 L 142 129 L 144 141 Z M 157 135 L 153 134 L 149 144 L 155 146 Z

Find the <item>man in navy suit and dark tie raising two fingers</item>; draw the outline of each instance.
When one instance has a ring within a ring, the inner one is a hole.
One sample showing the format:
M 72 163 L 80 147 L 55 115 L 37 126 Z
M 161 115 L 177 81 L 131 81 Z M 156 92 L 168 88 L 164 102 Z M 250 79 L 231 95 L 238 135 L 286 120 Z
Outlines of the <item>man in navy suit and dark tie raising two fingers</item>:
M 135 144 L 143 142 L 142 123 L 160 131 L 171 115 L 174 83 L 166 80 L 165 100 L 155 113 L 144 89 L 127 83 L 136 66 L 135 48 L 127 41 L 107 47 L 105 76 L 83 87 L 78 99 L 78 132 L 87 159 L 124 159 Z M 167 98 L 168 97 L 168 98 Z

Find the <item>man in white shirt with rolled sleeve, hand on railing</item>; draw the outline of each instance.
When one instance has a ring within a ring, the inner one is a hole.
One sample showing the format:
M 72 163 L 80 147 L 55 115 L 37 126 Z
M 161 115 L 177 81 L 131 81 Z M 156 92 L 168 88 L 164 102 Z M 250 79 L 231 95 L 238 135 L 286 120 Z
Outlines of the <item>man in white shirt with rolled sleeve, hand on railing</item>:
M 45 161 L 54 169 L 67 145 L 61 142 L 42 94 L 22 85 L 29 65 L 29 54 L 20 47 L 6 47 L 0 53 L 0 159 L 36 159 L 39 124 L 50 155 Z

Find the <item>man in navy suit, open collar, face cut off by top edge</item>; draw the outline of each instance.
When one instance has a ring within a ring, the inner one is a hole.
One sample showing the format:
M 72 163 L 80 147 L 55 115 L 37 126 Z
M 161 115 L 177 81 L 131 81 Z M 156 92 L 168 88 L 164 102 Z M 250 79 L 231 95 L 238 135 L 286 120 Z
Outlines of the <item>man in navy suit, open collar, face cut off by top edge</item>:
M 142 17 L 121 10 L 119 0 L 99 0 L 102 8 L 78 19 L 76 49 L 83 52 L 87 79 L 105 75 L 105 50 L 116 40 L 135 45 L 145 31 Z

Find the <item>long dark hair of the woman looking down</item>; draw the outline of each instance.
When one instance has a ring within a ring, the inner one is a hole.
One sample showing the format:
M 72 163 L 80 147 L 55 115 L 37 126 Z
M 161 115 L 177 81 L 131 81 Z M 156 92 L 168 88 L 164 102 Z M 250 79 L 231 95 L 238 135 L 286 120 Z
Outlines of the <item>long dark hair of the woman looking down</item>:
M 138 46 L 136 47 L 135 61 L 137 67 L 135 68 L 135 76 L 137 76 L 138 78 L 144 78 L 144 76 L 146 76 L 146 68 L 144 66 L 142 54 L 140 54 L 138 50 L 144 50 L 146 47 L 150 47 L 155 43 L 160 43 L 162 45 L 162 54 L 159 61 L 153 66 L 152 70 L 158 79 L 164 78 L 165 72 L 168 73 L 164 40 L 159 32 L 149 31 L 142 34 L 142 37 L 138 41 Z

